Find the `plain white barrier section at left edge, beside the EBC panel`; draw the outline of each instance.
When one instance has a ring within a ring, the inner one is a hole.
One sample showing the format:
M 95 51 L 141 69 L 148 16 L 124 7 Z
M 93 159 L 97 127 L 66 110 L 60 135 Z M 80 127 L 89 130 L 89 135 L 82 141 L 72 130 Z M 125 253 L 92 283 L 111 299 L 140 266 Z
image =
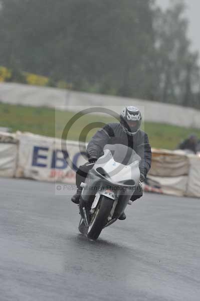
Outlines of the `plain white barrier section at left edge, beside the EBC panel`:
M 15 134 L 0 132 L 0 177 L 15 176 L 18 156 L 18 140 Z

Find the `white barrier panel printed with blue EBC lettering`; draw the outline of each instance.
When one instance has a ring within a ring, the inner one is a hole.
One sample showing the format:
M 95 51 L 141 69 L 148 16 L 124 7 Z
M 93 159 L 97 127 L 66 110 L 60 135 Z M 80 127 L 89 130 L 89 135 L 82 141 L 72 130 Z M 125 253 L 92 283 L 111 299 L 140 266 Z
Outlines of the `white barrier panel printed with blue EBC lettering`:
M 31 133 L 18 133 L 18 138 L 17 177 L 75 183 L 76 167 L 86 161 L 84 144 L 67 141 L 62 150 L 60 139 Z

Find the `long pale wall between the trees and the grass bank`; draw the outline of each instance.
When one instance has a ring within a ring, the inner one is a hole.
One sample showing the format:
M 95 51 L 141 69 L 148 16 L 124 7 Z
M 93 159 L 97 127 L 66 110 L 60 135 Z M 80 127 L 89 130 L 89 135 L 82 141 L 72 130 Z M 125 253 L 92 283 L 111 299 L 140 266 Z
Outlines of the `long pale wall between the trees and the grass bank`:
M 119 113 L 124 105 L 136 105 L 144 112 L 145 121 L 200 128 L 200 111 L 182 106 L 64 89 L 0 83 L 0 100 L 4 103 L 46 106 L 79 111 L 80 107 L 111 106 Z M 185 117 L 186 116 L 186 117 Z

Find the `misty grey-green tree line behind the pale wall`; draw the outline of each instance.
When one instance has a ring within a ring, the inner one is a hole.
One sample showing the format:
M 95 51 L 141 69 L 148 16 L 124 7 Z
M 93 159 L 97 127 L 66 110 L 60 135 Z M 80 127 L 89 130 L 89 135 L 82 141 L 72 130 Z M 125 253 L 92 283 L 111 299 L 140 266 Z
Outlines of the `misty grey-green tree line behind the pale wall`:
M 154 0 L 0 3 L 0 65 L 16 74 L 200 108 L 198 54 L 190 48 L 183 1 L 166 11 Z

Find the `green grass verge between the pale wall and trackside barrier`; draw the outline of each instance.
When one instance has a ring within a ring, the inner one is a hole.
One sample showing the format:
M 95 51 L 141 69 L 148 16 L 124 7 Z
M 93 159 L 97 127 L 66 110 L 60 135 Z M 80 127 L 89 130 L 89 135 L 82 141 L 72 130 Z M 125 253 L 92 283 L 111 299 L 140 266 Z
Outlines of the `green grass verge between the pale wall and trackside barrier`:
M 73 112 L 0 103 L 0 126 L 10 127 L 13 132 L 17 130 L 30 131 L 35 134 L 60 138 L 66 123 L 73 116 Z M 88 132 L 85 126 L 93 122 L 108 123 L 113 122 L 113 119 L 91 114 L 80 116 L 77 122 L 71 127 L 68 139 L 78 140 L 81 131 L 83 131 L 82 140 L 84 140 L 85 135 L 88 141 L 97 128 Z M 174 149 L 191 132 L 196 133 L 200 139 L 199 129 L 153 122 L 145 122 L 142 127 L 147 132 L 153 147 Z

